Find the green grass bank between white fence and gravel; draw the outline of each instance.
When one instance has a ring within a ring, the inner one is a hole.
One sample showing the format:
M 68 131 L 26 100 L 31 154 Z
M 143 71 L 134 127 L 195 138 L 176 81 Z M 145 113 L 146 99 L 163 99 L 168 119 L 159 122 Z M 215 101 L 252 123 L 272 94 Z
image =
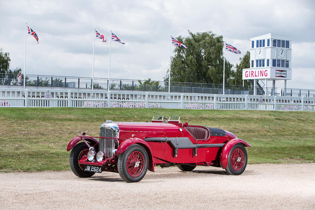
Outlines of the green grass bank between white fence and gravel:
M 69 170 L 68 142 L 97 136 L 105 120 L 150 121 L 181 116 L 247 141 L 249 163 L 315 162 L 315 113 L 123 108 L 0 108 L 0 171 Z

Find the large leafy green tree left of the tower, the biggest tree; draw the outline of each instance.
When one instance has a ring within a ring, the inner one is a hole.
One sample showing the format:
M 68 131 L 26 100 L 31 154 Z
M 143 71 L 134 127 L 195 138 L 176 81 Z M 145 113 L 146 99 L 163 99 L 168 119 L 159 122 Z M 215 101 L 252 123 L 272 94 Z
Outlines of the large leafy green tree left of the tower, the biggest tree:
M 172 82 L 194 82 L 222 84 L 223 80 L 223 37 L 213 32 L 192 33 L 183 39 L 177 38 L 187 49 L 176 47 L 171 60 Z M 232 64 L 225 60 L 225 84 L 231 79 Z M 168 73 L 164 77 L 168 84 Z

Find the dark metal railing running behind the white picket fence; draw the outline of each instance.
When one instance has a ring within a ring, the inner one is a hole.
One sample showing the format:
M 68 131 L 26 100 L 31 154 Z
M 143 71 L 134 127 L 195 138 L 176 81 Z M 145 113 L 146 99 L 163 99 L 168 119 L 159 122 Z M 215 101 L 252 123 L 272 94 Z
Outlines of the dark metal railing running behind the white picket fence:
M 12 88 L 17 86 L 17 74 L 0 74 L 0 86 L 2 88 Z M 71 77 L 71 76 L 47 76 L 47 75 L 26 75 L 26 87 L 28 89 L 66 89 L 66 90 L 91 90 L 92 78 L 90 77 Z M 22 82 L 23 84 L 23 82 Z M 222 94 L 223 86 L 221 84 L 206 83 L 184 83 L 171 82 L 170 92 L 182 93 L 204 93 L 204 94 Z M 94 78 L 94 90 L 107 91 L 107 78 Z M 21 88 L 21 86 L 19 87 Z M 245 94 L 252 95 L 252 86 L 225 85 L 224 94 Z M 110 79 L 110 90 L 119 91 L 155 91 L 167 92 L 168 83 L 164 81 L 145 81 L 145 80 L 127 80 Z M 263 87 L 266 90 L 266 87 Z M 267 95 L 279 96 L 305 96 L 315 97 L 315 90 L 307 89 L 286 89 L 267 87 Z

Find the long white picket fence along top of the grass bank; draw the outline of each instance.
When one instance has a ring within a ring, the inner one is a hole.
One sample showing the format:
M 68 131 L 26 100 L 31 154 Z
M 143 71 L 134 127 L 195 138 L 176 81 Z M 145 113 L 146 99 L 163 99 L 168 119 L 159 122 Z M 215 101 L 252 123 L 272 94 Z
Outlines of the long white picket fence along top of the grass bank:
M 314 97 L 89 90 L 0 89 L 0 107 L 315 111 Z M 26 97 L 27 96 L 27 97 Z

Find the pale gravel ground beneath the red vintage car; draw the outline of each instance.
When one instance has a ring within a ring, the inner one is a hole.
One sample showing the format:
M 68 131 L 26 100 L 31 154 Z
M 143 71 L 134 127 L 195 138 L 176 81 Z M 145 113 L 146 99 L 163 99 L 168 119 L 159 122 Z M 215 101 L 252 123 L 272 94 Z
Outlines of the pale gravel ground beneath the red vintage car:
M 156 167 L 137 183 L 103 172 L 0 173 L 0 209 L 315 209 L 315 163 L 248 165 L 240 176 Z

